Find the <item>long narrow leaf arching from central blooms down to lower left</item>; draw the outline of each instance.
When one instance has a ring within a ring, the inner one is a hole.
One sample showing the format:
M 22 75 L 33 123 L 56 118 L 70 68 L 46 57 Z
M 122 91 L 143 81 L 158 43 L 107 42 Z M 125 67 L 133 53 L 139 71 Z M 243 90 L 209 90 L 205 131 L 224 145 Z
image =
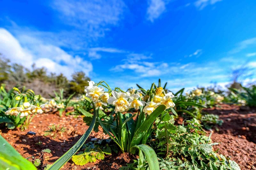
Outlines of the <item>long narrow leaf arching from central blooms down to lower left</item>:
M 90 133 L 93 130 L 93 127 L 96 122 L 97 114 L 99 109 L 96 111 L 94 108 L 93 118 L 92 122 L 87 129 L 87 131 L 83 134 L 83 136 L 74 144 L 73 147 L 71 147 L 64 155 L 62 155 L 57 161 L 55 161 L 48 170 L 57 170 L 60 169 L 84 144 L 86 139 L 89 137 Z

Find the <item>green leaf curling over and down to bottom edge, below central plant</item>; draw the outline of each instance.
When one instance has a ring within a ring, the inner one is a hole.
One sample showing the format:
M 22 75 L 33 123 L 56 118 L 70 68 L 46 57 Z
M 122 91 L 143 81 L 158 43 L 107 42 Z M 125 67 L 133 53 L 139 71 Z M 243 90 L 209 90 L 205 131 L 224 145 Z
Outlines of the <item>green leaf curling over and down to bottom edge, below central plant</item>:
M 148 168 L 150 170 L 160 170 L 156 153 L 151 147 L 146 144 L 135 145 L 131 148 L 131 150 L 134 150 L 132 151 L 133 153 L 136 152 L 135 148 L 142 150 L 142 152 L 145 154 L 148 161 Z

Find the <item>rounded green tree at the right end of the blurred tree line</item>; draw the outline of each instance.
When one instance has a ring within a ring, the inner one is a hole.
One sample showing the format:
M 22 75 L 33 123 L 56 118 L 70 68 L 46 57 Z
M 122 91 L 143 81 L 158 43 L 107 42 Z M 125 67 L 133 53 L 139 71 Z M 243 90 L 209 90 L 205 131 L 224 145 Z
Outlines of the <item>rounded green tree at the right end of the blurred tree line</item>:
M 75 72 L 72 74 L 72 80 L 70 81 L 70 93 L 76 92 L 76 94 L 83 94 L 84 87 L 89 86 L 89 77 L 86 77 L 83 71 Z

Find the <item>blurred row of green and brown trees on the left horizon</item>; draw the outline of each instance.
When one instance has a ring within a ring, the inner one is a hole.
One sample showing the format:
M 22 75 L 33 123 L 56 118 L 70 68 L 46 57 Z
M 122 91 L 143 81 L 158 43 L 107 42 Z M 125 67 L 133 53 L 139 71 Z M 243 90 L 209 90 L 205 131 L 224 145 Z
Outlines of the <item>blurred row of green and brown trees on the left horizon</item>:
M 35 64 L 32 69 L 23 65 L 11 63 L 9 59 L 0 54 L 0 84 L 7 90 L 13 87 L 26 86 L 32 89 L 36 94 L 41 94 L 45 98 L 49 95 L 54 96 L 54 90 L 64 89 L 64 95 L 68 96 L 74 92 L 76 95 L 84 93 L 84 86 L 88 86 L 90 78 L 83 71 L 77 71 L 72 74 L 72 79 L 68 80 L 66 76 L 48 72 L 46 68 L 37 68 Z

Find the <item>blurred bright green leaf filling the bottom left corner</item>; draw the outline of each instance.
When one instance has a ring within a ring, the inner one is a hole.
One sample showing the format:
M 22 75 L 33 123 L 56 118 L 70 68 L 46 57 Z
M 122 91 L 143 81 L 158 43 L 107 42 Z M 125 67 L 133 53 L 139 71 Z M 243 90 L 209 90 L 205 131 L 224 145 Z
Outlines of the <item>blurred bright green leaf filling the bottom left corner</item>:
M 36 170 L 37 168 L 23 158 L 5 139 L 0 135 L 0 169 L 10 170 Z

